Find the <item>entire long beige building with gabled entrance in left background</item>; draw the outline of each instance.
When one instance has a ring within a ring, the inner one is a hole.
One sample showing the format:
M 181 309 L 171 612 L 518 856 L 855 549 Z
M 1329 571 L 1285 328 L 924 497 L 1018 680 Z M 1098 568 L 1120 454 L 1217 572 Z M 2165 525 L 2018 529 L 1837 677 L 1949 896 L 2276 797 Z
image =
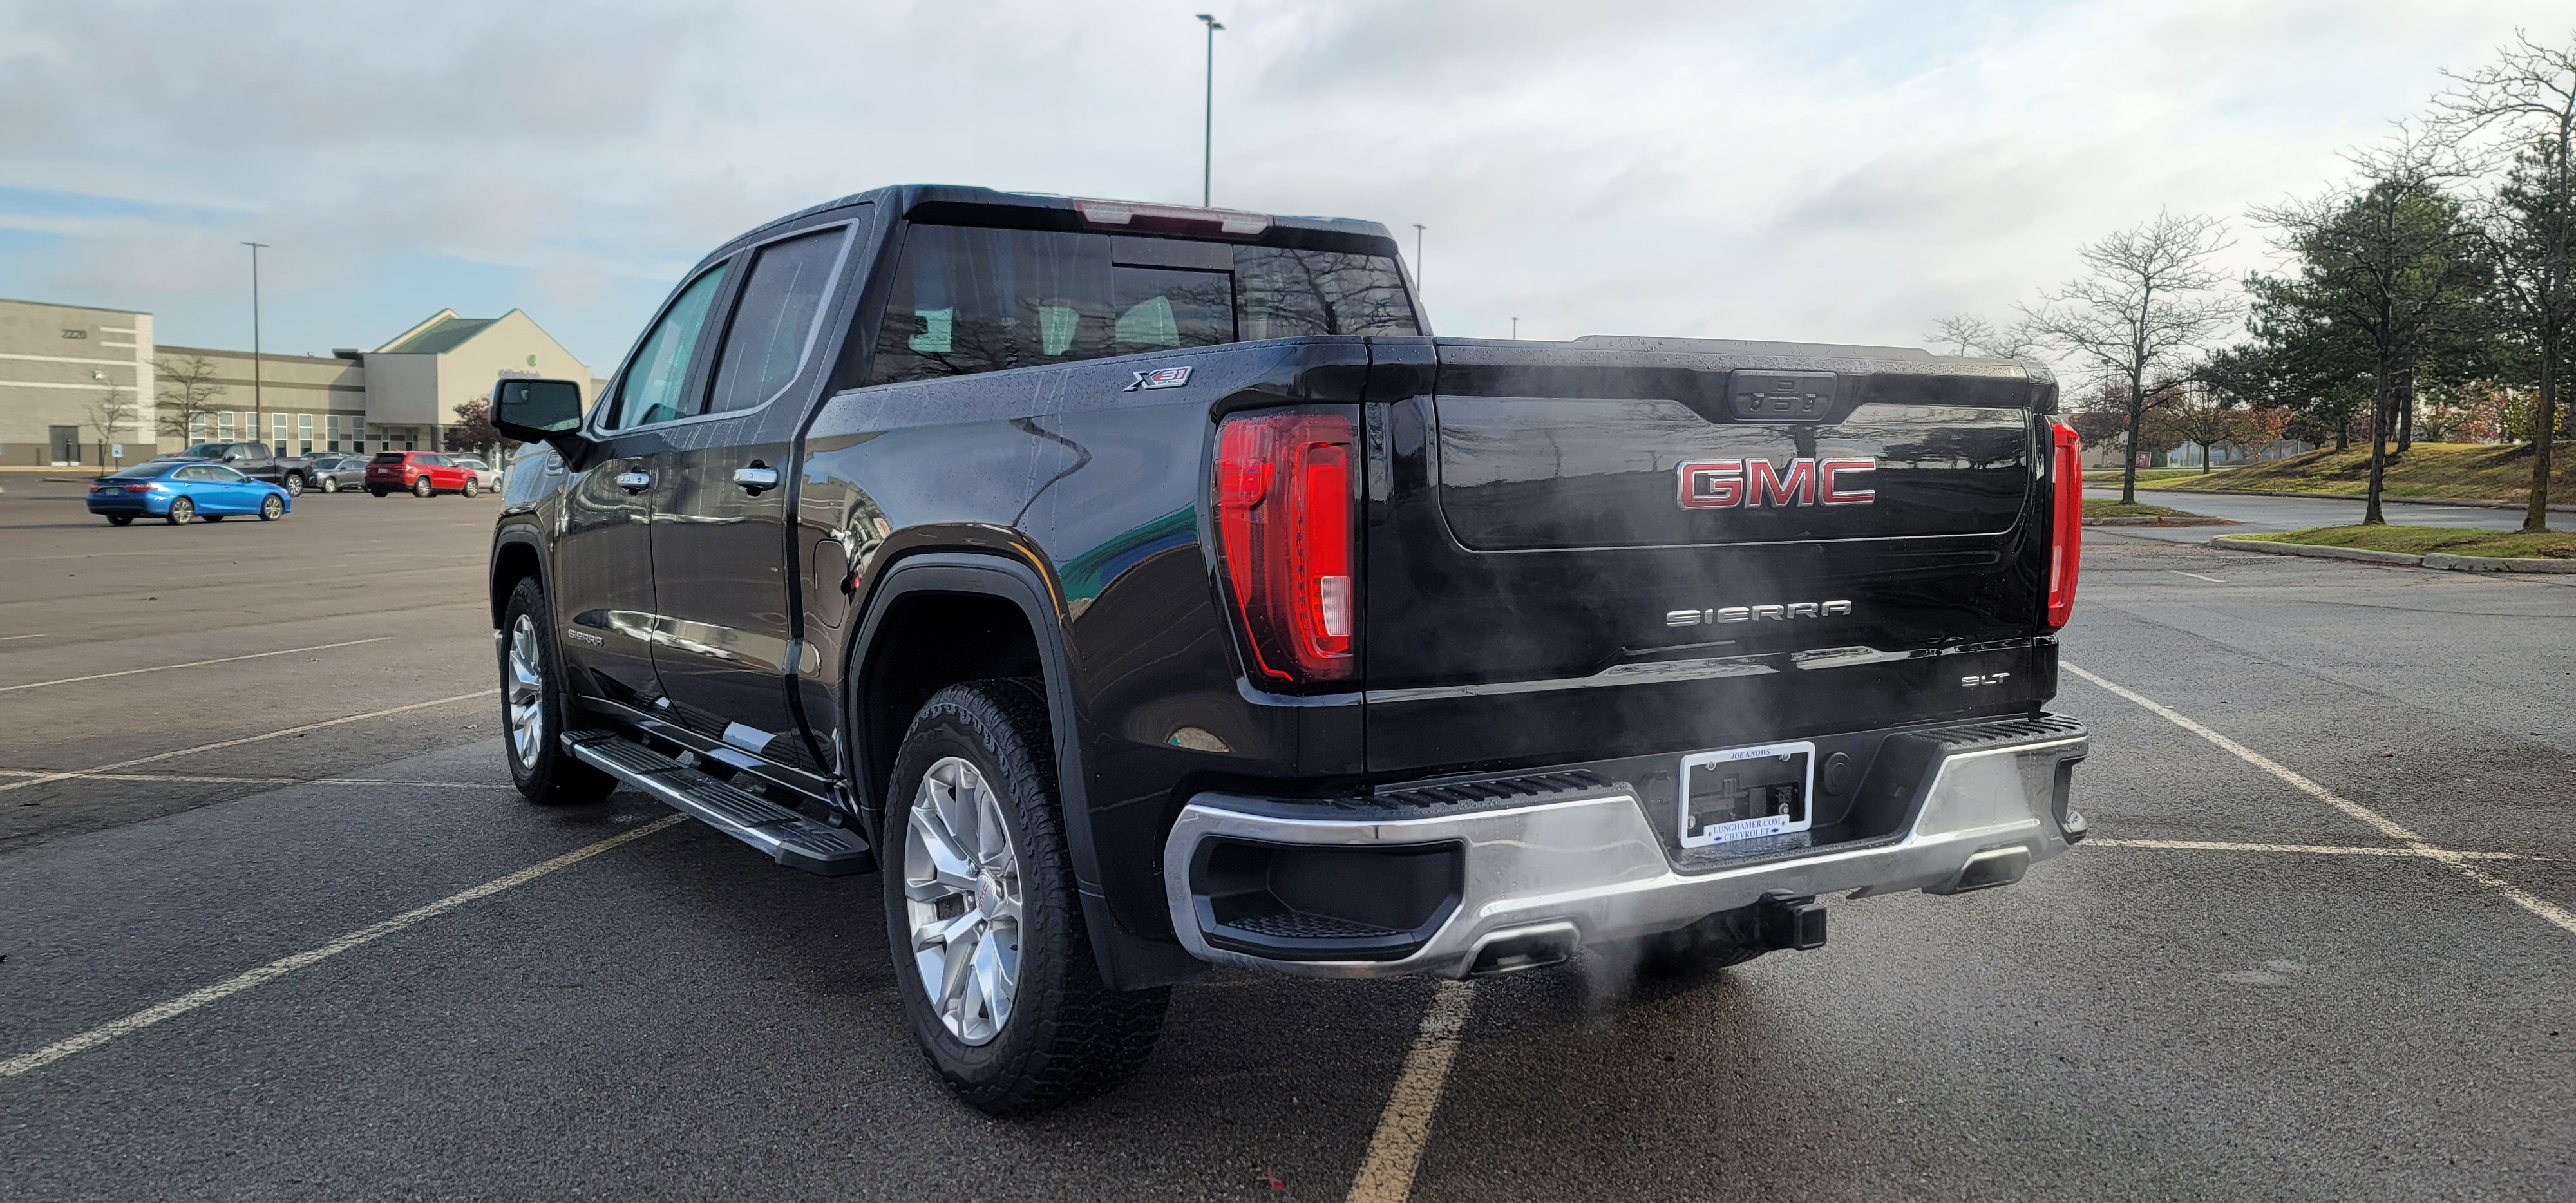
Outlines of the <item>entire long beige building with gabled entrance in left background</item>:
M 459 404 L 489 399 L 502 376 L 598 392 L 590 368 L 518 309 L 440 309 L 376 350 L 252 363 L 247 350 L 155 345 L 142 312 L 0 301 L 0 466 L 95 469 L 232 440 L 296 456 L 425 451 Z

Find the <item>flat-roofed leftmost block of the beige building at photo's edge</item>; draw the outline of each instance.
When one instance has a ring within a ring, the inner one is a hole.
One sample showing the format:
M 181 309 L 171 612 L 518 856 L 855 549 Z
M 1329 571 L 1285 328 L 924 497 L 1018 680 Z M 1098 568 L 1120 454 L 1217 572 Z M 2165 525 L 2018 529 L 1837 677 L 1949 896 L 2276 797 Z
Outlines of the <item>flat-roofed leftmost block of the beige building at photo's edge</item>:
M 0 301 L 0 466 L 152 459 L 152 314 Z

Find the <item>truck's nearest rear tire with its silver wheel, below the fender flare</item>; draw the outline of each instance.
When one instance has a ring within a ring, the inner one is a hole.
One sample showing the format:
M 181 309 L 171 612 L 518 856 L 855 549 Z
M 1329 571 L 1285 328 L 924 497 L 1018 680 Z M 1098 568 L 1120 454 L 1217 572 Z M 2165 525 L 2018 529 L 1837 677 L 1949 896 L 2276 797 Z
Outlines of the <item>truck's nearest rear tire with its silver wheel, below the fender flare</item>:
M 1074 1103 L 1154 1051 L 1172 992 L 1100 981 L 1036 680 L 951 685 L 912 716 L 878 863 L 894 989 L 961 1100 L 992 1115 Z M 969 912 L 984 914 L 971 930 Z

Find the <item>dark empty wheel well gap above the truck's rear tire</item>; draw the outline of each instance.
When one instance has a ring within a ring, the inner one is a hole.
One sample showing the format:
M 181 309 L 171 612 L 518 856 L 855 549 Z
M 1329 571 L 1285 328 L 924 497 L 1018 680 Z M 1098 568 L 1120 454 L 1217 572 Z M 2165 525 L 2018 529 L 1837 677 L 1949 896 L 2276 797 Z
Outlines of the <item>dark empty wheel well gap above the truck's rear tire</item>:
M 860 773 L 884 796 L 912 716 L 933 693 L 984 677 L 1043 677 L 1028 613 L 989 592 L 907 592 L 876 623 L 858 683 Z

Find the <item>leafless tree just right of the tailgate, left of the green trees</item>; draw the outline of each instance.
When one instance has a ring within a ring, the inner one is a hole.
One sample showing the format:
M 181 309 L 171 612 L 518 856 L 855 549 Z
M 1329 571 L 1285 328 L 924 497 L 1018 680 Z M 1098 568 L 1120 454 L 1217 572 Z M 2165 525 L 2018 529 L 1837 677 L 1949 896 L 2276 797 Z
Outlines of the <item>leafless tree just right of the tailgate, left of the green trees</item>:
M 2079 247 L 2089 273 L 2022 309 L 2025 327 L 2045 345 L 2089 366 L 2120 389 L 2128 453 L 2120 502 L 2138 500 L 2138 435 L 2156 404 L 2148 376 L 2172 374 L 2236 322 L 2233 296 L 2213 296 L 2221 283 L 2210 258 L 2228 247 L 2215 216 L 2156 216 Z

